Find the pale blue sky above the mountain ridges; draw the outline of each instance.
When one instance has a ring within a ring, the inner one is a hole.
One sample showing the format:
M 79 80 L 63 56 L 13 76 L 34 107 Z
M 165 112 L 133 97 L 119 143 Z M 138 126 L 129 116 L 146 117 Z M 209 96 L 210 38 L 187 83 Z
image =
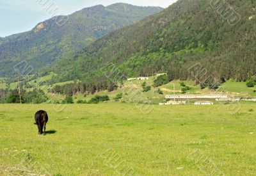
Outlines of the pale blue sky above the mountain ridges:
M 54 3 L 58 13 L 68 15 L 88 6 L 129 3 L 138 6 L 168 7 L 177 0 L 0 0 L 0 36 L 29 31 L 51 14 L 45 12 L 45 3 Z M 57 12 L 57 11 L 56 11 Z M 61 14 L 57 14 L 61 15 Z

